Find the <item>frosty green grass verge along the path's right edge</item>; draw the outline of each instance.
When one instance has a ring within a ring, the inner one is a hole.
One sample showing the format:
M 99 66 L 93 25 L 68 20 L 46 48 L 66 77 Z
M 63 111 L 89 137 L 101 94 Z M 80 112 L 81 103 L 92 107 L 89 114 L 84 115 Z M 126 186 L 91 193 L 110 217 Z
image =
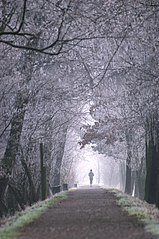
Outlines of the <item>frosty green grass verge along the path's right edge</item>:
M 123 210 L 143 223 L 146 232 L 159 236 L 159 210 L 155 205 L 150 205 L 118 190 L 110 191 L 115 194 L 117 203 Z

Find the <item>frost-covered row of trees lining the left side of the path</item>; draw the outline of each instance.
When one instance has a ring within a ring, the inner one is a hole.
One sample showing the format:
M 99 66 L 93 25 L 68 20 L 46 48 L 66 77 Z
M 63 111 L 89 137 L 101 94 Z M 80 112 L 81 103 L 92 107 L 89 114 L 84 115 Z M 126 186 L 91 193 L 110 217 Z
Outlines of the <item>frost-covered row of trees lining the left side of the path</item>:
M 87 100 L 77 56 L 92 27 L 77 3 L 1 2 L 1 215 L 41 199 L 40 151 L 47 195 L 62 179 L 73 183 L 74 158 L 62 159 Z

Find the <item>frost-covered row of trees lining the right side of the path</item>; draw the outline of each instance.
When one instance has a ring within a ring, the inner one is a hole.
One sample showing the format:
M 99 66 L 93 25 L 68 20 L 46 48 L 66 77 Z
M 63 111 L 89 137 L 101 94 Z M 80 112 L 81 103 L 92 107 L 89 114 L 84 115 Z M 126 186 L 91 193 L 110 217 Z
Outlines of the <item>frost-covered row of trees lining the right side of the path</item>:
M 83 126 L 80 142 L 81 147 L 93 143 L 94 150 L 120 161 L 125 192 L 135 190 L 136 196 L 157 207 L 158 10 L 156 1 L 123 4 L 116 25 L 128 23 L 125 35 L 116 40 L 115 51 L 102 65 L 90 108 L 95 124 Z

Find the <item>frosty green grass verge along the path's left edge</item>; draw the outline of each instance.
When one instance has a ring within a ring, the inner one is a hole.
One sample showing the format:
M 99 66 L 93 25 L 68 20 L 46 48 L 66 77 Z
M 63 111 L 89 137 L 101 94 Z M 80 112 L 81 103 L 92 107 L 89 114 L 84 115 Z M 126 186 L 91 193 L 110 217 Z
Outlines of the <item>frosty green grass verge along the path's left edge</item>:
M 40 201 L 32 207 L 28 207 L 26 210 L 17 213 L 15 216 L 7 218 L 6 223 L 0 228 L 0 239 L 17 238 L 18 231 L 21 228 L 38 219 L 47 209 L 64 199 L 67 199 L 67 193 L 62 193 L 45 201 Z

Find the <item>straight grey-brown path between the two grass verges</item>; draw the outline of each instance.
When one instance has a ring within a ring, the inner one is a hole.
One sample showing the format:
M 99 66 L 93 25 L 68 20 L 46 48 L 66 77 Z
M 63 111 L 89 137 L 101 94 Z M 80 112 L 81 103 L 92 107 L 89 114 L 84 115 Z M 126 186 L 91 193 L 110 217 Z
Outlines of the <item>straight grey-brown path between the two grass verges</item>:
M 116 204 L 113 193 L 99 187 L 68 192 L 22 230 L 19 239 L 154 239 Z

